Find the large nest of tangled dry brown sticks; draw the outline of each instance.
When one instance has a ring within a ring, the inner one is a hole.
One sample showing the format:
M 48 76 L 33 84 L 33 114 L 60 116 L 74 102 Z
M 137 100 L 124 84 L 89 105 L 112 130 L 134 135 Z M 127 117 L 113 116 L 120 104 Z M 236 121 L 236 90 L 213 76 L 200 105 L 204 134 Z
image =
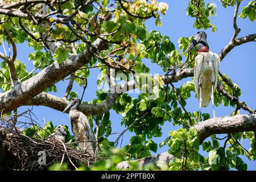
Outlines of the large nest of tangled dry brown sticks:
M 20 117 L 30 121 L 17 121 Z M 71 147 L 71 143 L 65 144 L 57 139 L 34 139 L 23 135 L 21 129 L 31 125 L 40 126 L 32 119 L 30 110 L 0 118 L 0 171 L 47 170 L 54 163 L 67 163 L 70 169 L 77 169 L 81 163 L 90 167 L 98 160 L 85 151 Z M 45 160 L 43 156 L 46 156 Z

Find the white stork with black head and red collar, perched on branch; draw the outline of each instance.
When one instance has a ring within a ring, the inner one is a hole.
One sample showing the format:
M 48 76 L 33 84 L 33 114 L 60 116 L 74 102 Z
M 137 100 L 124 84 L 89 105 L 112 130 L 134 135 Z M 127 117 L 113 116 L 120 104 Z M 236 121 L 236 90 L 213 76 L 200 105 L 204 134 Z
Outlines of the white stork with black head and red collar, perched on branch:
M 201 107 L 207 107 L 210 100 L 212 100 L 213 118 L 215 118 L 213 93 L 218 83 L 220 57 L 216 53 L 209 51 L 207 34 L 204 31 L 197 32 L 192 40 L 192 43 L 184 53 L 191 51 L 191 49 L 193 49 L 196 45 L 198 45 L 198 55 L 195 59 L 194 82 L 196 96 L 199 99 L 200 121 Z

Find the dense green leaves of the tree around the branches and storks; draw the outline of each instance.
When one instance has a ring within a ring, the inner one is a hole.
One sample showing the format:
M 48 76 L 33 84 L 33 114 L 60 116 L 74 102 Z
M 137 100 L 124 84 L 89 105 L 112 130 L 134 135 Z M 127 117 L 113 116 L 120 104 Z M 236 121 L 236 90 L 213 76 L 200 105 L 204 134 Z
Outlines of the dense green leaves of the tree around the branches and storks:
M 224 7 L 234 6 L 237 1 L 223 0 L 222 5 Z M 121 69 L 117 69 L 116 73 L 137 73 L 138 81 L 140 77 L 148 77 L 150 69 L 147 67 L 143 59 L 151 61 L 156 66 L 162 68 L 164 72 L 168 68 L 193 68 L 196 51 L 181 55 L 180 49 L 185 51 L 188 48 L 191 38 L 180 38 L 179 48 L 174 46 L 177 40 L 170 40 L 166 35 L 162 35 L 158 31 L 148 32 L 145 27 L 145 22 L 149 16 L 155 18 L 156 26 L 161 26 L 160 15 L 165 15 L 168 9 L 166 3 L 158 3 L 155 0 L 135 0 L 130 3 L 123 1 L 123 6 L 127 11 L 133 15 L 140 16 L 142 18 L 128 15 L 123 7 L 116 1 L 97 0 L 100 5 L 98 9 L 94 6 L 86 6 L 82 11 L 79 11 L 74 18 L 72 24 L 76 27 L 76 30 L 84 37 L 86 41 L 77 42 L 76 51 L 81 53 L 88 48 L 87 42 L 93 42 L 97 38 L 97 34 L 104 34 L 105 39 L 109 42 L 109 48 L 106 51 L 100 52 L 101 57 L 107 56 L 115 49 L 121 48 L 115 52 L 114 57 L 110 57 L 109 61 L 119 61 L 123 65 Z M 243 7 L 239 16 L 241 18 L 249 18 L 254 21 L 256 18 L 256 3 L 255 1 L 249 2 L 246 7 Z M 57 7 L 57 6 L 56 6 Z M 64 15 L 70 15 L 75 11 L 75 2 L 67 1 L 62 6 Z M 112 12 L 112 19 L 105 21 L 109 11 Z M 193 27 L 200 28 L 212 28 L 212 31 L 216 31 L 216 26 L 210 22 L 211 16 L 216 16 L 216 6 L 213 3 L 205 4 L 202 0 L 192 0 L 188 2 L 187 15 L 195 19 Z M 94 17 L 97 15 L 98 19 Z M 217 17 L 218 18 L 218 17 Z M 53 61 L 61 63 L 66 60 L 68 56 L 73 55 L 71 42 L 76 42 L 77 36 L 65 25 L 56 23 L 55 19 L 49 19 L 53 22 L 53 26 L 50 29 L 45 29 L 40 24 L 34 24 L 31 20 L 22 19 L 23 26 L 30 30 L 31 34 L 36 39 L 40 39 L 40 34 L 50 34 L 53 40 L 62 40 L 64 42 L 55 52 L 51 53 L 46 51 L 43 46 L 43 42 L 37 42 L 32 39 L 22 28 L 20 28 L 19 18 L 0 15 L 1 22 L 0 29 L 3 26 L 10 31 L 10 34 L 14 37 L 15 43 L 27 43 L 28 46 L 34 49 L 34 52 L 30 53 L 29 60 L 32 61 L 35 67 L 35 72 L 29 73 L 26 71 L 26 65 L 20 60 L 15 60 L 15 67 L 18 73 L 19 80 L 24 81 L 28 78 L 36 75 L 37 72 L 42 71 Z M 76 24 L 80 24 L 77 27 Z M 86 34 L 81 30 L 85 30 Z M 81 38 L 78 38 L 81 39 Z M 7 38 L 4 34 L 0 35 L 0 42 L 7 42 Z M 125 47 L 122 49 L 122 47 Z M 119 56 L 121 55 L 121 56 Z M 183 59 L 183 56 L 185 59 Z M 118 57 L 118 58 L 117 58 Z M 81 87 L 86 84 L 85 77 L 90 76 L 89 69 L 87 67 L 100 66 L 101 74 L 108 73 L 109 67 L 104 65 L 105 61 L 93 57 L 89 64 L 84 65 L 84 69 L 79 69 L 75 72 L 75 81 Z M 97 68 L 96 68 L 97 69 Z M 134 71 L 131 71 L 133 69 Z M 224 75 L 228 80 L 230 78 Z M 98 77 L 97 84 L 104 84 L 103 76 Z M 230 80 L 231 81 L 231 80 Z M 219 82 L 223 88 L 231 95 L 240 96 L 241 90 L 236 85 L 238 90 L 234 93 L 234 90 L 230 88 L 226 82 L 219 77 Z M 113 110 L 117 114 L 122 114 L 123 118 L 121 125 L 129 127 L 129 130 L 134 134 L 130 138 L 130 143 L 123 146 L 121 149 L 115 148 L 115 143 L 108 140 L 110 134 L 112 134 L 112 121 L 110 121 L 110 113 L 107 112 L 103 115 L 88 116 L 90 123 L 93 126 L 93 121 L 97 122 L 97 127 L 94 125 L 94 133 L 97 132 L 97 136 L 101 136 L 98 139 L 100 147 L 100 156 L 108 157 L 107 160 L 102 160 L 91 168 L 92 170 L 107 169 L 114 170 L 115 165 L 123 160 L 141 159 L 145 156 L 150 156 L 152 152 L 158 151 L 159 147 L 170 147 L 168 152 L 175 156 L 175 159 L 170 162 L 169 166 L 162 167 L 162 169 L 170 170 L 220 170 L 236 168 L 238 170 L 246 170 L 247 165 L 239 157 L 245 155 L 250 160 L 256 159 L 256 140 L 253 132 L 234 133 L 227 134 L 228 140 L 225 142 L 225 146 L 220 146 L 219 140 L 215 135 L 210 137 L 209 140 L 203 142 L 201 145 L 203 150 L 208 152 L 208 156 L 204 157 L 200 154 L 200 143 L 197 137 L 197 131 L 191 126 L 197 123 L 199 112 L 187 112 L 184 111 L 181 106 L 186 106 L 187 100 L 191 97 L 191 92 L 195 92 L 193 80 L 185 82 L 179 88 L 172 88 L 170 85 L 165 85 L 162 77 L 156 77 L 153 80 L 153 86 L 159 85 L 159 89 L 153 89 L 152 92 L 138 94 L 137 98 L 132 98 L 127 93 L 121 94 L 115 101 Z M 144 83 L 139 87 L 139 90 L 147 89 L 149 85 Z M 0 69 L 0 88 L 3 91 L 7 91 L 11 88 L 9 67 L 6 61 L 2 61 Z M 56 85 L 49 87 L 46 92 L 57 92 L 59 88 Z M 105 100 L 107 93 L 97 90 L 97 98 L 88 103 L 101 103 Z M 106 90 L 105 90 L 106 91 Z M 77 93 L 71 92 L 69 99 L 77 97 Z M 217 90 L 214 93 L 215 106 L 223 104 L 224 106 L 233 107 L 236 109 L 236 103 L 229 101 Z M 8 113 L 10 114 L 10 113 Z M 231 113 L 234 114 L 234 113 Z M 208 119 L 210 115 L 203 113 L 204 120 Z M 136 121 L 134 123 L 134 121 Z M 115 121 L 116 124 L 117 121 Z M 155 143 L 154 137 L 162 137 L 162 126 L 165 122 L 170 122 L 174 126 L 179 126 L 176 131 L 170 131 L 169 136 L 162 143 Z M 68 126 L 65 126 L 68 129 Z M 72 134 L 68 132 L 66 142 L 73 139 Z M 43 129 L 39 129 L 36 126 L 32 126 L 23 131 L 23 134 L 34 137 L 36 139 L 46 139 L 49 134 L 54 132 L 54 127 L 51 122 L 48 122 Z M 250 154 L 245 151 L 245 148 L 240 144 L 241 140 L 249 139 L 251 148 Z M 74 146 L 75 147 L 75 146 Z M 131 169 L 137 169 L 137 164 L 131 162 Z M 64 164 L 60 167 L 59 164 L 54 164 L 49 167 L 50 170 L 68 169 Z M 88 170 L 86 165 L 82 164 L 79 168 L 81 170 Z M 144 169 L 155 169 L 151 165 L 147 165 Z

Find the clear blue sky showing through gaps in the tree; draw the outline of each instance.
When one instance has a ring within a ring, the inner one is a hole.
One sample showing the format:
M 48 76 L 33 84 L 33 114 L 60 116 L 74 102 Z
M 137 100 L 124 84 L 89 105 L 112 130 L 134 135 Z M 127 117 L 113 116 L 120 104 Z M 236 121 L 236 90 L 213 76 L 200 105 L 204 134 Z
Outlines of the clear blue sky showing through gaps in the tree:
M 197 29 L 193 28 L 194 19 L 188 17 L 186 15 L 186 8 L 188 6 L 189 1 L 162 1 L 167 2 L 169 4 L 169 9 L 167 11 L 167 15 L 163 16 L 162 27 L 156 27 L 154 23 L 154 19 L 148 20 L 146 23 L 147 30 L 158 30 L 163 35 L 170 36 L 171 41 L 175 44 L 176 48 L 179 49 L 177 40 L 180 37 L 189 37 L 196 34 Z M 228 44 L 232 35 L 233 35 L 233 13 L 234 7 L 224 8 L 218 1 L 205 1 L 214 2 L 217 5 L 217 16 L 210 18 L 212 23 L 217 27 L 216 32 L 212 32 L 211 29 L 205 30 L 207 32 L 207 40 L 210 47 L 210 50 L 213 52 L 220 52 L 221 49 Z M 249 1 L 243 1 L 240 6 L 240 11 L 243 6 L 246 6 Z M 239 11 L 239 12 L 240 12 Z M 241 32 L 238 37 L 248 34 L 254 34 L 256 32 L 255 22 L 250 22 L 248 19 L 237 19 L 238 27 L 241 28 Z M 245 101 L 246 104 L 255 109 L 256 107 L 256 97 L 254 93 L 256 91 L 256 43 L 246 43 L 242 46 L 234 48 L 221 62 L 220 71 L 222 73 L 226 73 L 234 83 L 238 84 L 242 89 L 242 96 L 240 100 Z M 2 48 L 0 49 L 2 51 Z M 22 60 L 23 63 L 27 65 L 27 71 L 31 71 L 34 67 L 32 65 L 32 61 L 28 60 L 28 54 L 33 52 L 32 48 L 28 47 L 27 44 L 19 44 L 18 45 L 18 59 Z M 181 53 L 181 50 L 180 50 Z M 150 60 L 144 60 L 144 63 L 150 67 L 151 73 L 159 73 L 160 75 L 164 74 L 160 67 L 156 67 L 155 64 L 150 63 Z M 85 90 L 85 95 L 83 101 L 92 101 L 96 98 L 95 92 L 97 89 L 96 78 L 99 74 L 99 69 L 91 69 L 90 77 L 88 78 L 88 88 Z M 191 78 L 185 78 L 184 80 L 175 83 L 175 86 L 180 86 L 185 81 L 191 81 Z M 57 93 L 53 93 L 56 96 L 63 97 L 65 93 L 65 89 L 67 87 L 68 81 L 59 81 L 56 86 L 58 89 Z M 82 88 L 80 88 L 77 84 L 74 84 L 73 92 L 77 92 L 79 97 L 82 94 Z M 134 94 L 133 94 L 134 96 Z M 24 110 L 31 108 L 31 106 L 22 106 L 18 109 L 19 113 Z M 195 97 L 195 93 L 191 94 L 191 98 L 187 101 L 186 109 L 188 111 L 197 111 L 199 110 L 199 102 Z M 225 115 L 230 115 L 234 110 L 233 107 L 225 107 L 218 106 L 216 108 L 216 116 L 221 117 Z M 38 122 L 43 125 L 43 119 L 47 122 L 52 120 L 53 125 L 70 125 L 68 114 L 63 114 L 60 111 L 53 110 L 51 108 L 47 108 L 44 106 L 34 106 L 33 113 L 38 118 Z M 203 108 L 204 113 L 210 113 L 212 115 L 212 106 L 211 104 L 207 108 Z M 125 127 L 121 126 L 121 115 L 117 115 L 114 111 L 110 111 L 112 121 L 112 132 L 113 133 L 121 133 Z M 241 114 L 247 114 L 245 111 L 241 110 Z M 154 138 L 154 141 L 159 143 L 162 142 L 165 138 L 168 137 L 168 131 L 176 130 L 177 127 L 171 125 L 171 123 L 165 123 L 162 126 L 163 136 L 161 138 Z M 123 137 L 124 146 L 127 142 L 129 142 L 129 138 L 132 137 L 133 133 L 127 131 Z M 118 134 L 111 135 L 110 140 L 115 140 L 118 137 Z M 244 143 L 245 148 L 249 149 L 250 145 L 248 141 Z M 164 152 L 168 150 L 168 147 L 158 148 L 157 153 Z M 202 151 L 202 150 L 201 150 Z M 207 155 L 206 152 L 202 151 L 201 154 Z M 256 162 L 250 162 L 247 158 L 241 157 L 244 162 L 248 164 L 248 169 L 255 170 Z

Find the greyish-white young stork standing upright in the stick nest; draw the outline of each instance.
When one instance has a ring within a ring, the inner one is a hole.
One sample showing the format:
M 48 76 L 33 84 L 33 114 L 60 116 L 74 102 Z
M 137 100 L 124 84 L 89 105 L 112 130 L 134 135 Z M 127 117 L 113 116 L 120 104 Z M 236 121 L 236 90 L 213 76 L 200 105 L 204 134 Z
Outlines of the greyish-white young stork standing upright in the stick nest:
M 79 111 L 79 105 L 79 98 L 72 98 L 63 113 L 70 109 L 71 130 L 81 150 L 86 150 L 90 155 L 96 155 L 96 138 L 87 117 Z

